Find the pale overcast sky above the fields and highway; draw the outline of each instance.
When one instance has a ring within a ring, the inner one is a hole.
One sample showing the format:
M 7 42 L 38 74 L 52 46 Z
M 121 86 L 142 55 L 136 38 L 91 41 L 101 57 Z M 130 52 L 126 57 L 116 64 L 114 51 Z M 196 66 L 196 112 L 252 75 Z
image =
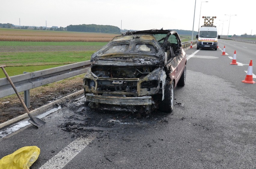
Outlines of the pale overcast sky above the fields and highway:
M 128 30 L 192 30 L 194 23 L 194 31 L 198 31 L 202 16 L 216 16 L 219 35 L 254 35 L 255 6 L 254 0 L 1 0 L 0 23 L 39 27 L 96 24 Z

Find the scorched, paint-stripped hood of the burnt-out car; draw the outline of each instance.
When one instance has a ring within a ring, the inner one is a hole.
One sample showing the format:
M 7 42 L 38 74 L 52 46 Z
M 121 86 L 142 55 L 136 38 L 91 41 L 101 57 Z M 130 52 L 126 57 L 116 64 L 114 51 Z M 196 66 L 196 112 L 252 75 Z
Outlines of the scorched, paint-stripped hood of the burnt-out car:
M 164 55 L 162 47 L 151 34 L 121 35 L 114 37 L 107 45 L 92 54 L 91 62 L 128 60 L 128 63 L 160 63 L 163 62 Z

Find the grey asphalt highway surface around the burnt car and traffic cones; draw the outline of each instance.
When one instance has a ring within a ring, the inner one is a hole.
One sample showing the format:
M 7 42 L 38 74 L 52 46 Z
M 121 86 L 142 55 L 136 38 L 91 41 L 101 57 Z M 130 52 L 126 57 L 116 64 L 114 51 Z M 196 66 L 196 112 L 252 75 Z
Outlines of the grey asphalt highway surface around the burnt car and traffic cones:
M 0 158 L 36 145 L 32 169 L 256 168 L 256 84 L 241 82 L 250 60 L 256 65 L 256 45 L 219 40 L 224 45 L 226 56 L 186 50 L 186 84 L 175 88 L 172 114 L 95 112 L 81 97 L 44 117 L 43 127 L 1 138 Z M 229 64 L 235 50 L 243 66 Z

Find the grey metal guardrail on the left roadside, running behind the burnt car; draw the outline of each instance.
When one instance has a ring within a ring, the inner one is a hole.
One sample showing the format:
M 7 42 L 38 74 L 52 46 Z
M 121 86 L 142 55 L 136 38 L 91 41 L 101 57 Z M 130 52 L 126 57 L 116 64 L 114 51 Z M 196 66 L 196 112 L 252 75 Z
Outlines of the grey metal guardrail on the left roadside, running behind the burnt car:
M 190 47 L 191 42 L 194 45 L 197 43 L 197 40 L 182 42 L 183 48 Z M 83 74 L 90 65 L 90 60 L 88 60 L 40 71 L 24 72 L 25 74 L 11 76 L 10 78 L 18 92 L 24 91 L 24 102 L 27 107 L 30 107 L 30 89 Z M 0 98 L 15 94 L 7 78 L 0 79 L 0 91 Z

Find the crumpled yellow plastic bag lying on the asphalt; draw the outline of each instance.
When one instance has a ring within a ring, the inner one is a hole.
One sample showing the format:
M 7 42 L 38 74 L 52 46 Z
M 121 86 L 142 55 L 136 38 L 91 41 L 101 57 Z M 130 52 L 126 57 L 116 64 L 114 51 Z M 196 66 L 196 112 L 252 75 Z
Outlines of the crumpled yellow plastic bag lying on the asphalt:
M 0 160 L 0 169 L 29 169 L 37 160 L 40 148 L 37 146 L 26 146 Z

